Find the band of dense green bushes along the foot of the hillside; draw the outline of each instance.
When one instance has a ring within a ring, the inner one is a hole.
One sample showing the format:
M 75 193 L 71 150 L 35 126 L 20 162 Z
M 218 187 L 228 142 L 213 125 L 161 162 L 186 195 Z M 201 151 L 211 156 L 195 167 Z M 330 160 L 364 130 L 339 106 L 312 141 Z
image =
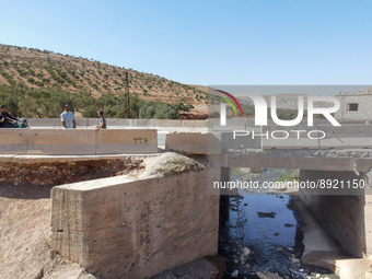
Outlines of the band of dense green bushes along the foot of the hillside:
M 33 83 L 44 85 L 39 84 L 42 81 L 34 80 Z M 106 117 L 125 117 L 123 94 L 117 96 L 108 92 L 93 97 L 88 90 L 70 93 L 60 85 L 45 90 L 0 84 L 0 104 L 5 104 L 9 112 L 19 117 L 56 118 L 62 113 L 65 104 L 69 104 L 72 112 L 81 112 L 83 117 L 97 117 L 98 111 L 104 111 Z M 178 119 L 178 111 L 188 112 L 190 108 L 193 105 L 146 101 L 138 94 L 130 96 L 131 118 Z

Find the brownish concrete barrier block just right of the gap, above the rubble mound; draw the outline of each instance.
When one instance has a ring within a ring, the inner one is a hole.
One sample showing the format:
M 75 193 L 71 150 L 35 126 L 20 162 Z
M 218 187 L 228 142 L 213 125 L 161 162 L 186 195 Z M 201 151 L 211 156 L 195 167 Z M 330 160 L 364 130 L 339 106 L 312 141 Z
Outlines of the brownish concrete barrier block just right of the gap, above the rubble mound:
M 210 133 L 172 132 L 166 135 L 165 149 L 188 154 L 221 154 L 222 144 Z

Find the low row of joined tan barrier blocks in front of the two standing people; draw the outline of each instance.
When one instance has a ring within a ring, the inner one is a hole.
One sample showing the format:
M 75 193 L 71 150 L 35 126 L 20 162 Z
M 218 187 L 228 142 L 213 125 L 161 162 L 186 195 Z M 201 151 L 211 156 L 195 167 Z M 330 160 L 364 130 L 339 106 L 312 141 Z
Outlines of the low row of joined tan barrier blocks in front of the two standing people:
M 0 153 L 156 153 L 154 129 L 1 129 Z

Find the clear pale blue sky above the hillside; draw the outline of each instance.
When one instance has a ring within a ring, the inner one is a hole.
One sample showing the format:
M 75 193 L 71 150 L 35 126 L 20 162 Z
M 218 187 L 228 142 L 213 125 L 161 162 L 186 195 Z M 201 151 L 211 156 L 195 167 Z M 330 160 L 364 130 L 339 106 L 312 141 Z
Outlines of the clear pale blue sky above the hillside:
M 0 43 L 186 84 L 371 84 L 372 1 L 0 0 Z

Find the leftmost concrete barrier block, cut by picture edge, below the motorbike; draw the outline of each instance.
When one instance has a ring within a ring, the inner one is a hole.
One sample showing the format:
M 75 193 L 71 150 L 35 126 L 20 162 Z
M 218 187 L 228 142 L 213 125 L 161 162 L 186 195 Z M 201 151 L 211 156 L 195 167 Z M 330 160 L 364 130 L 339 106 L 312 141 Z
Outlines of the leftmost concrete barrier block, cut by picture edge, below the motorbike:
M 26 153 L 28 148 L 28 129 L 0 128 L 0 153 Z

